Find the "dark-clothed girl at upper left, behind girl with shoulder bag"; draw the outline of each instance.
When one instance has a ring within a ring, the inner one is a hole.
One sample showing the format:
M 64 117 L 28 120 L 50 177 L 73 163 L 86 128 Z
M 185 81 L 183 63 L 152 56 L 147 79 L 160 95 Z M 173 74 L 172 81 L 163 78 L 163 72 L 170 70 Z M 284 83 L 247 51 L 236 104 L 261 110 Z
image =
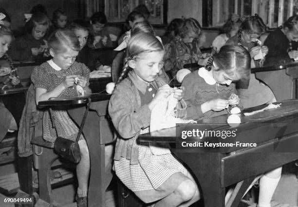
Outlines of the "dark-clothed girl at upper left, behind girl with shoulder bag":
M 43 13 L 34 13 L 26 22 L 26 34 L 11 44 L 9 56 L 19 61 L 43 61 L 47 43 L 44 36 L 49 27 L 49 19 Z

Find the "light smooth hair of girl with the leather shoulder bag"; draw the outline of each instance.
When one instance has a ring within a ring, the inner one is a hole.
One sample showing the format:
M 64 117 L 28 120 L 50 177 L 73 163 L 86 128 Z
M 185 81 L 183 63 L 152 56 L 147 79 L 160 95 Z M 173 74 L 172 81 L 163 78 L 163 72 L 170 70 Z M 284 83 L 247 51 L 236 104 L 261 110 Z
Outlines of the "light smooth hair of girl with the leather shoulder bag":
M 80 43 L 75 33 L 70 29 L 56 30 L 48 41 L 49 48 L 52 48 L 55 53 L 66 50 L 67 48 L 74 51 L 80 50 Z

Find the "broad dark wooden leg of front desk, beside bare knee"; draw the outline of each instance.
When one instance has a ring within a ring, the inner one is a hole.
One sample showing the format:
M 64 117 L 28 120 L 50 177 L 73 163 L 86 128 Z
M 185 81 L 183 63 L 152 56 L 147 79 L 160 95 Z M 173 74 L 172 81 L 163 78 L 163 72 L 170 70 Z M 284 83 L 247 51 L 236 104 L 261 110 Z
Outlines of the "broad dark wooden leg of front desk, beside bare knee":
M 195 175 L 203 191 L 205 207 L 224 207 L 225 188 L 221 188 L 220 171 L 222 155 L 212 152 L 175 153 Z

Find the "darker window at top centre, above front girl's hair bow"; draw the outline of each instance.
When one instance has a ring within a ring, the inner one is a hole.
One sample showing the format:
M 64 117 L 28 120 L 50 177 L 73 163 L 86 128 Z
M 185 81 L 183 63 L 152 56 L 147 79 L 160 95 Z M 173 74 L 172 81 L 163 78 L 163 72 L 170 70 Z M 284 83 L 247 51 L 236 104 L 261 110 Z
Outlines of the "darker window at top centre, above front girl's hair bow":
M 167 23 L 167 0 L 105 0 L 105 13 L 109 22 L 124 22 L 129 13 L 139 4 L 145 4 L 152 24 Z

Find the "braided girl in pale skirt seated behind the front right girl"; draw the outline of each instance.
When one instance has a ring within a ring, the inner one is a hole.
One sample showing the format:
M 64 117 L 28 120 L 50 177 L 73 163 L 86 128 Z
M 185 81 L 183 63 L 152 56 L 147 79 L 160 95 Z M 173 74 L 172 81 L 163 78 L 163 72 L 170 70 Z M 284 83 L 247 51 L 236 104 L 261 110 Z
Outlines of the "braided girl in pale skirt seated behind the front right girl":
M 265 31 L 266 26 L 264 22 L 258 15 L 255 15 L 246 18 L 242 22 L 238 34 L 229 38 L 226 44 L 241 44 L 252 58 L 251 67 L 258 67 L 260 61 L 254 60 L 253 58 L 259 54 L 260 50 L 262 54 L 268 53 L 267 46 L 260 46 L 257 43 L 258 38 L 260 38 L 261 34 L 265 33 Z M 248 80 L 242 79 L 238 81 L 236 88 L 244 108 L 260 106 L 276 101 L 271 89 L 256 79 L 255 74 L 251 74 Z

